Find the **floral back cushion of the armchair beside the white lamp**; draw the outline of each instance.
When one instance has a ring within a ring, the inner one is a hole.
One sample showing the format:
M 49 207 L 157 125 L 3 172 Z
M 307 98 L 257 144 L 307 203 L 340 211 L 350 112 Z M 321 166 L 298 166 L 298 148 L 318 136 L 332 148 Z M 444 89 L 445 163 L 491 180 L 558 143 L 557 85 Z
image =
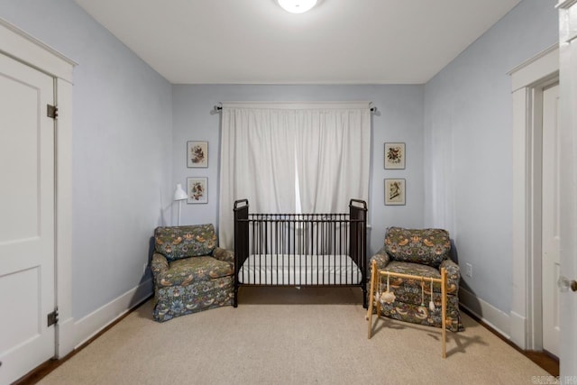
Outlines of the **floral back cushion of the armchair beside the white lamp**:
M 157 227 L 154 242 L 156 251 L 169 261 L 210 255 L 216 246 L 215 227 L 211 224 Z

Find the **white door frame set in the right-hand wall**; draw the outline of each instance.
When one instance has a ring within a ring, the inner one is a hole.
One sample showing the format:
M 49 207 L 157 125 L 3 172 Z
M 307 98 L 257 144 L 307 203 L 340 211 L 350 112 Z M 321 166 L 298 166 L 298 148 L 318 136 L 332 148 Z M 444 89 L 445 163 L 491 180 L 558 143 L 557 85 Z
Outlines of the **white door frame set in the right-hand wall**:
M 513 302 L 510 339 L 542 350 L 541 137 L 543 87 L 559 78 L 557 44 L 512 69 Z

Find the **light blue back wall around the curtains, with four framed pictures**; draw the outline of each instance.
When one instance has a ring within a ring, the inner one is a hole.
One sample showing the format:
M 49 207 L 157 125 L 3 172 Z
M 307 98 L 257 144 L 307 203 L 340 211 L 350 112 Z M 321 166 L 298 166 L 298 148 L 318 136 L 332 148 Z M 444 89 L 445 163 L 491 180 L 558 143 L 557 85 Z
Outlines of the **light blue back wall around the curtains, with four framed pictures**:
M 378 108 L 372 117 L 370 250 L 382 246 L 389 225 L 423 225 L 423 86 L 231 86 L 173 87 L 173 184 L 188 177 L 208 178 L 208 204 L 183 205 L 184 224 L 216 223 L 219 184 L 220 115 L 211 115 L 224 101 L 351 101 L 368 100 Z M 187 141 L 208 141 L 207 169 L 188 169 Z M 406 170 L 384 170 L 384 142 L 406 142 Z M 407 179 L 407 206 L 384 206 L 385 178 Z

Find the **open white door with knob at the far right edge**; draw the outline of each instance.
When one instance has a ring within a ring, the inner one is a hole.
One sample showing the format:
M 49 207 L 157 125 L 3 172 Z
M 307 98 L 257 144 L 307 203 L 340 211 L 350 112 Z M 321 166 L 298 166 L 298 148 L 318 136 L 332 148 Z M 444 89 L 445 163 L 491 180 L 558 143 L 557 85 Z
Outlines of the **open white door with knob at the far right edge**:
M 559 3 L 561 274 L 577 280 L 577 2 Z M 575 288 L 577 289 L 577 288 Z M 560 295 L 563 384 L 577 382 L 577 292 Z

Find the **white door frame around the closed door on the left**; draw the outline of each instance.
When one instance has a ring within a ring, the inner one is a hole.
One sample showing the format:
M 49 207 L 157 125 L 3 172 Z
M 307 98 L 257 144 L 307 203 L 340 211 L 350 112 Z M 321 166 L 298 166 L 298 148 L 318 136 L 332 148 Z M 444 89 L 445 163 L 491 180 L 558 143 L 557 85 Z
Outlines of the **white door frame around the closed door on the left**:
M 76 63 L 0 18 L 0 52 L 54 78 L 59 107 L 55 131 L 55 274 L 56 325 L 54 356 L 74 349 L 72 318 L 72 75 Z M 31 368 L 31 370 L 34 368 Z

